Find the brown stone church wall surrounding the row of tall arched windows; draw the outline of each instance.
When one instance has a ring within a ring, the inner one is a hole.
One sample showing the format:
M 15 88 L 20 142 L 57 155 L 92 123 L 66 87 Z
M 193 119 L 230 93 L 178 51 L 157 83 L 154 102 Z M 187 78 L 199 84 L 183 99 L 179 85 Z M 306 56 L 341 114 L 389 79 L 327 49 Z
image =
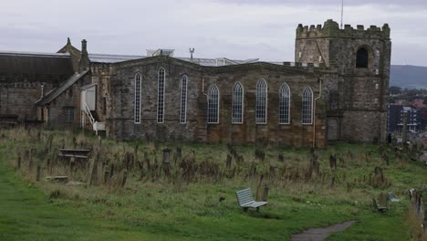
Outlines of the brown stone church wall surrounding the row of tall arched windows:
M 165 118 L 157 123 L 157 75 L 165 68 Z M 298 68 L 271 64 L 203 68 L 173 58 L 148 58 L 118 64 L 110 79 L 111 122 L 109 133 L 120 139 L 143 139 L 147 135 L 158 140 L 207 142 L 271 143 L 278 145 L 310 145 L 313 125 L 301 124 L 302 90 L 310 87 L 318 96 L 318 74 Z M 136 73 L 142 75 L 141 124 L 134 123 L 134 89 Z M 180 123 L 181 79 L 188 78 L 187 122 Z M 255 86 L 266 79 L 267 123 L 255 124 Z M 232 89 L 239 81 L 244 86 L 244 123 L 232 124 Z M 278 121 L 278 90 L 286 82 L 291 89 L 291 123 Z M 220 91 L 218 124 L 207 123 L 208 89 L 216 85 Z M 326 144 L 324 102 L 318 103 L 317 142 Z

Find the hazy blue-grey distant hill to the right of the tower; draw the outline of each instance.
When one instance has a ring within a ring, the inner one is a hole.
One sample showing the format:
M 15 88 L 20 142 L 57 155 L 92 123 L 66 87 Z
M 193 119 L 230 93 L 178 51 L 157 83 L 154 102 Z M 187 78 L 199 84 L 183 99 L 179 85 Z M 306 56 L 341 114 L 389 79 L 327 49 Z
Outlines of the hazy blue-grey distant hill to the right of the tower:
M 390 86 L 427 89 L 427 67 L 392 65 Z

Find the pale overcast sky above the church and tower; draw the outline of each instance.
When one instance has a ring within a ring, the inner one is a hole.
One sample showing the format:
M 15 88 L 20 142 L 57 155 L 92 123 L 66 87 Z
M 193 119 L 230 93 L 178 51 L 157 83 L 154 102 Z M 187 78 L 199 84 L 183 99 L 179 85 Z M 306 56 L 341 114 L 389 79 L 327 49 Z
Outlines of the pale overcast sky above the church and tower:
M 392 64 L 427 66 L 426 0 L 345 0 L 344 24 L 389 23 Z M 0 0 L 0 50 L 56 52 L 67 42 L 90 53 L 293 61 L 295 30 L 339 22 L 340 0 Z

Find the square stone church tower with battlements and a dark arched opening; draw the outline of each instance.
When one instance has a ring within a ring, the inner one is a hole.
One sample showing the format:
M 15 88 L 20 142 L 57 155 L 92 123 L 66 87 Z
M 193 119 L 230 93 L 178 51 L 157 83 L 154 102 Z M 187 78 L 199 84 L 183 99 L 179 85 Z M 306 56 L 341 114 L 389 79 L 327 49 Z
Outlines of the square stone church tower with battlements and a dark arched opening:
M 346 25 L 297 26 L 295 61 L 323 72 L 328 140 L 385 141 L 391 29 Z

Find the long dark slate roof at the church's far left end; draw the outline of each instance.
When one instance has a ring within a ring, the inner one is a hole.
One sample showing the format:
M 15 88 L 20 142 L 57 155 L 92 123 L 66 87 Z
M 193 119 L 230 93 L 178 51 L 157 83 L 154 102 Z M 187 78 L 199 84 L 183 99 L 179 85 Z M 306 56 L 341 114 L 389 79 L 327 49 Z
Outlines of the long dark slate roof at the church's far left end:
M 58 81 L 73 74 L 68 54 L 0 51 L 0 77 L 26 81 Z

